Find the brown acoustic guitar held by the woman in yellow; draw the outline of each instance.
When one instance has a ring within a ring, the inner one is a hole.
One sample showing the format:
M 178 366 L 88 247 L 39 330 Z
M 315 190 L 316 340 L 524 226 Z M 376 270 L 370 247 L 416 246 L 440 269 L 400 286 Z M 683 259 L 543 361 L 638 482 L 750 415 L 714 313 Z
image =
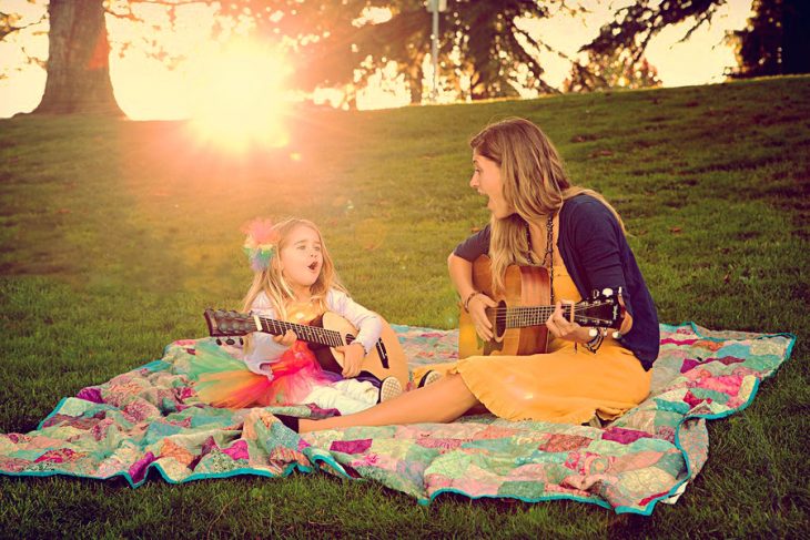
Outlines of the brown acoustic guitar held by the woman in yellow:
M 541 266 L 509 266 L 506 268 L 505 292 L 496 294 L 492 285 L 489 257 L 482 255 L 473 262 L 473 285 L 476 291 L 497 302 L 486 309 L 493 324 L 493 338 L 484 342 L 475 332 L 472 316 L 460 310 L 458 318 L 458 357 L 525 356 L 545 353 L 548 346 L 546 320 L 554 313 L 548 271 Z M 618 300 L 620 292 L 594 292 L 587 300 L 563 304 L 563 315 L 581 326 L 619 328 L 624 310 Z

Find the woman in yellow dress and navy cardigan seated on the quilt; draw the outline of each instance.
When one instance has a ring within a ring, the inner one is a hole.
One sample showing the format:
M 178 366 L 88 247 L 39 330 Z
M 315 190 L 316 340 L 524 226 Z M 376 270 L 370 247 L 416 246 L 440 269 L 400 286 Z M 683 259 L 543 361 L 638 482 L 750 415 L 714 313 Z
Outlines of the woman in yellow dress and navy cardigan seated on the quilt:
M 616 211 L 597 193 L 573 186 L 550 141 L 535 124 L 509 119 L 470 141 L 469 185 L 487 196 L 490 224 L 449 256 L 450 277 L 478 335 L 492 337 L 485 308 L 495 303 L 473 287 L 472 262 L 488 253 L 495 287 L 506 267 L 546 266 L 556 309 L 546 322 L 547 354 L 472 356 L 433 367 L 443 377 L 355 415 L 308 420 L 283 417 L 302 432 L 347 426 L 452 421 L 484 406 L 500 418 L 554 422 L 610 420 L 649 393 L 658 356 L 655 305 Z M 566 319 L 560 304 L 593 289 L 621 287 L 626 315 L 620 337 Z M 427 377 L 432 374 L 417 373 Z

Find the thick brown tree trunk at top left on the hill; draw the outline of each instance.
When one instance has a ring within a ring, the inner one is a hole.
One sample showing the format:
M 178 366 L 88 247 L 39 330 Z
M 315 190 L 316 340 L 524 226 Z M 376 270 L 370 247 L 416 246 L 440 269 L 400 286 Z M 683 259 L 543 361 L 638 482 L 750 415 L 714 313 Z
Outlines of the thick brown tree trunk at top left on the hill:
M 124 116 L 110 82 L 103 0 L 51 0 L 48 16 L 48 79 L 33 113 Z

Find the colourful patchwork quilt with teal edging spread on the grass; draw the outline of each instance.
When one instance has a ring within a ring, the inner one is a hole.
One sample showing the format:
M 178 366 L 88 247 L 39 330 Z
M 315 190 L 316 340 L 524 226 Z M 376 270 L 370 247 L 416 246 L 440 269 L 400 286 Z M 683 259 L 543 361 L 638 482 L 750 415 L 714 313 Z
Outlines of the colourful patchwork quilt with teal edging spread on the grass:
M 456 357 L 455 330 L 394 328 L 413 365 Z M 160 360 L 62 399 L 34 431 L 0 435 L 0 473 L 122 476 L 138 487 L 150 470 L 169 482 L 324 470 L 379 481 L 425 505 L 455 492 L 649 514 L 677 498 L 708 459 L 706 420 L 748 406 L 796 337 L 662 325 L 649 398 L 601 428 L 474 416 L 301 437 L 272 412 L 330 411 L 202 404 L 188 377 L 200 342 L 175 342 Z

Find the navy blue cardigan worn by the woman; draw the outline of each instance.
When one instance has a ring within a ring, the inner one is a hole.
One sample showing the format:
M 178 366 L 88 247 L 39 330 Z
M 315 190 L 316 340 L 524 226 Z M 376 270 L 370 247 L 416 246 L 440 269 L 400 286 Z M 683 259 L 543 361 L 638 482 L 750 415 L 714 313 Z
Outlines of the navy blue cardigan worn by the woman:
M 632 350 L 645 369 L 658 357 L 658 313 L 621 226 L 598 200 L 577 195 L 563 205 L 557 247 L 583 298 L 593 291 L 621 287 L 632 328 L 621 345 Z M 489 225 L 458 244 L 454 254 L 469 262 L 489 253 Z

